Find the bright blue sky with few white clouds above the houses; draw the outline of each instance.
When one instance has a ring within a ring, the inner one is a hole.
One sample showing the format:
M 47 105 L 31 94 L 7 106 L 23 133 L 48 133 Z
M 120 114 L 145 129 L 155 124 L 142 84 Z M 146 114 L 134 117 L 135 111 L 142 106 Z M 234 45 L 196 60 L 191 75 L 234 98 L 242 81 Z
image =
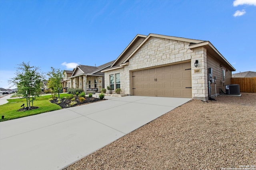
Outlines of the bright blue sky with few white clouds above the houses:
M 256 0 L 0 0 L 0 87 L 23 61 L 99 66 L 149 33 L 210 41 L 236 72 L 256 71 Z

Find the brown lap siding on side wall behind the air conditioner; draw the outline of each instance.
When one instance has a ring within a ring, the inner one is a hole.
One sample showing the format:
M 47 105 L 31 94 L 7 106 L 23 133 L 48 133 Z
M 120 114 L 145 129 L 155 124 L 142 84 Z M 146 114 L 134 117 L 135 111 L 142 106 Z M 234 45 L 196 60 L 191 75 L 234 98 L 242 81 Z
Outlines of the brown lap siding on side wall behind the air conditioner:
M 207 54 L 207 69 L 212 68 L 212 76 L 216 76 L 216 93 L 220 94 L 220 89 L 225 92 L 225 85 L 231 84 L 232 72 L 222 66 L 221 63 L 214 59 L 211 55 Z M 222 68 L 225 70 L 225 82 L 222 83 Z M 211 95 L 215 95 L 215 84 L 211 84 Z

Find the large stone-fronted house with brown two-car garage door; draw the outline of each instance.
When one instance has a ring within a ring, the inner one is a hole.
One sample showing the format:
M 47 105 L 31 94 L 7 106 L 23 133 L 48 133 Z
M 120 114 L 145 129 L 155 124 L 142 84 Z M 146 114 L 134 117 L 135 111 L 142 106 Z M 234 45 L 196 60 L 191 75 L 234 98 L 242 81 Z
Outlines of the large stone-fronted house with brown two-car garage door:
M 136 35 L 102 72 L 105 87 L 121 88 L 129 95 L 207 101 L 209 89 L 211 96 L 215 94 L 208 68 L 212 68 L 212 78 L 216 76 L 216 93 L 220 94 L 220 89 L 231 84 L 235 69 L 210 41 L 149 34 Z

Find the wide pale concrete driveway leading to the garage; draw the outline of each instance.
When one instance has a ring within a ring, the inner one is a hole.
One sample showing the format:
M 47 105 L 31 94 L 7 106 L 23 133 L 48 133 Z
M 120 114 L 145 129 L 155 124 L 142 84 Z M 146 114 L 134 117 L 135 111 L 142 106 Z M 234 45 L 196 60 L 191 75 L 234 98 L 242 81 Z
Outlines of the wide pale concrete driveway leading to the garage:
M 0 169 L 62 169 L 191 100 L 106 98 L 109 100 L 0 122 Z

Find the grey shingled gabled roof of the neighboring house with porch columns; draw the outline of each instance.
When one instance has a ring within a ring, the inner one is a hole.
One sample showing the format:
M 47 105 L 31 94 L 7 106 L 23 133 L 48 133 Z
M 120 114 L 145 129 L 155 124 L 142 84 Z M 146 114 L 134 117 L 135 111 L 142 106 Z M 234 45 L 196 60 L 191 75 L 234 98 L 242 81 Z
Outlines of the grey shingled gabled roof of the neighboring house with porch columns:
M 69 77 L 69 78 L 72 78 L 72 77 L 75 77 L 75 76 L 78 76 L 78 75 L 93 75 L 93 74 L 98 75 L 98 74 L 95 74 L 95 73 L 103 70 L 104 68 L 110 67 L 113 64 L 113 62 L 114 61 L 110 61 L 106 64 L 102 64 L 102 65 L 97 66 L 97 67 L 96 66 L 78 65 L 78 66 L 76 66 L 74 72 L 72 73 L 72 76 Z M 79 72 L 78 75 L 76 75 L 77 72 Z M 101 74 L 101 76 L 102 75 L 103 74 Z

